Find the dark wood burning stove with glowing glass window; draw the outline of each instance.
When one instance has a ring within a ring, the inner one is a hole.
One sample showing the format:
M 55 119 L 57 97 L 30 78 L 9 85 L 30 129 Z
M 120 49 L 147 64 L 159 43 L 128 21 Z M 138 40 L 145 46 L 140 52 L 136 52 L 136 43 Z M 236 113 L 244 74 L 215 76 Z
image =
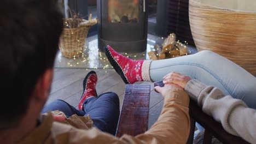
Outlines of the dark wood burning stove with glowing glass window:
M 97 0 L 98 47 L 118 52 L 147 49 L 148 2 L 146 0 Z

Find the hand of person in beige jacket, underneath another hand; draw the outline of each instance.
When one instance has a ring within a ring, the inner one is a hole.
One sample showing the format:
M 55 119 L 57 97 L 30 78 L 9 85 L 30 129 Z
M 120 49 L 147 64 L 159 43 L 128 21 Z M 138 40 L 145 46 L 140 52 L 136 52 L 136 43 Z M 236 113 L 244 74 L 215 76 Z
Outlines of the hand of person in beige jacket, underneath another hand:
M 174 84 L 174 83 L 167 83 L 164 87 L 155 87 L 155 91 L 162 94 L 162 97 L 165 97 L 166 94 L 173 92 L 173 91 L 179 91 L 183 90 L 182 87 Z

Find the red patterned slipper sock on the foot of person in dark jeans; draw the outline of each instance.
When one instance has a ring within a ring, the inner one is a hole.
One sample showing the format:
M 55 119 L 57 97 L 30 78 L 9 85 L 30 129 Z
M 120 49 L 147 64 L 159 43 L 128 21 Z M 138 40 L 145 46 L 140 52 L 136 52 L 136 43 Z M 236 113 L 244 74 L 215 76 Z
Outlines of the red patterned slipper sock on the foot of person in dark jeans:
M 83 87 L 84 92 L 78 104 L 78 109 L 83 110 L 84 101 L 91 97 L 97 97 L 96 92 L 97 75 L 95 71 L 90 71 L 84 78 Z

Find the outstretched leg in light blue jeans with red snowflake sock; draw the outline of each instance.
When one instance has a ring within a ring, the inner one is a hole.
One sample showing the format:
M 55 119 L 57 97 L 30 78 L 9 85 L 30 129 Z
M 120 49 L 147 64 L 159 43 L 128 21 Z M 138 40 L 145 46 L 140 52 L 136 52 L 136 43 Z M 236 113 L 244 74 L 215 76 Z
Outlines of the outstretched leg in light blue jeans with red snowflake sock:
M 242 99 L 249 107 L 256 109 L 256 78 L 211 51 L 159 61 L 132 61 L 110 46 L 105 47 L 105 54 L 125 83 L 161 81 L 166 74 L 177 72 L 216 86 L 224 94 Z

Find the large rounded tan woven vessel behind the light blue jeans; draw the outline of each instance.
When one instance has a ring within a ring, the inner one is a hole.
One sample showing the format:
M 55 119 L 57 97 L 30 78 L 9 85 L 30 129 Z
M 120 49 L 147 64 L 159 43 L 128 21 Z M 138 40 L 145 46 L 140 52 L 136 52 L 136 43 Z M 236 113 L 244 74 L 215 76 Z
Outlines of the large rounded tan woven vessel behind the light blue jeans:
M 256 1 L 189 0 L 198 51 L 210 50 L 256 75 Z

